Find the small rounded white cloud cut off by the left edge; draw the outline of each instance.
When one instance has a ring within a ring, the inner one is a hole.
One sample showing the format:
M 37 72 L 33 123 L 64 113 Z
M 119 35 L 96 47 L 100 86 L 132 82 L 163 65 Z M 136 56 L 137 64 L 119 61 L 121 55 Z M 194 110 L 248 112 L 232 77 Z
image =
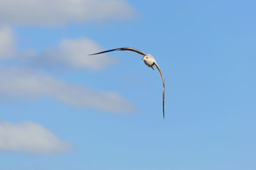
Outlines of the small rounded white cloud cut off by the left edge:
M 0 26 L 0 60 L 13 57 L 16 53 L 16 39 L 12 29 Z

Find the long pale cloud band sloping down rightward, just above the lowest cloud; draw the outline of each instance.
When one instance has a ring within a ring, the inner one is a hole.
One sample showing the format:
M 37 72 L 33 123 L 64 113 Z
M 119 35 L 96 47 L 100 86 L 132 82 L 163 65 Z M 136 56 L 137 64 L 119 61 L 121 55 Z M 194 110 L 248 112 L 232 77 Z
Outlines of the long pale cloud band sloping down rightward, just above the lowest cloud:
M 0 96 L 38 98 L 49 96 L 72 106 L 96 108 L 114 113 L 133 112 L 134 106 L 116 92 L 72 85 L 51 76 L 24 69 L 0 67 Z

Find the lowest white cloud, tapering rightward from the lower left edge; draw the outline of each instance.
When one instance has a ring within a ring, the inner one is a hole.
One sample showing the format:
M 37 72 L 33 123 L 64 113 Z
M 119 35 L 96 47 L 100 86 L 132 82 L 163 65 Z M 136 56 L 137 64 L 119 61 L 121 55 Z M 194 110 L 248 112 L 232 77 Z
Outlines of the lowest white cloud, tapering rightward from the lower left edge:
M 28 153 L 70 152 L 73 146 L 56 137 L 42 125 L 33 122 L 0 122 L 0 150 Z

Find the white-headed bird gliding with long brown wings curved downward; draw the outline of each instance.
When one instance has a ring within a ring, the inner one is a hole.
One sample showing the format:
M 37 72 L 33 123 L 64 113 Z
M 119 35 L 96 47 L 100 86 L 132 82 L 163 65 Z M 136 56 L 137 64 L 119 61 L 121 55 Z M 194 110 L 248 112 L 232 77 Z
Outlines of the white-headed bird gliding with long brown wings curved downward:
M 164 76 L 154 57 L 149 53 L 144 53 L 144 52 L 141 52 L 140 50 L 137 50 L 136 48 L 131 48 L 131 47 L 115 48 L 112 50 L 106 50 L 104 52 L 92 53 L 90 55 L 98 55 L 100 53 L 107 53 L 107 52 L 113 52 L 113 51 L 132 51 L 132 52 L 139 53 L 140 55 L 143 55 L 143 58 L 141 60 L 143 60 L 148 67 L 151 67 L 153 70 L 154 70 L 154 66 L 157 67 L 163 81 L 163 118 L 164 118 Z

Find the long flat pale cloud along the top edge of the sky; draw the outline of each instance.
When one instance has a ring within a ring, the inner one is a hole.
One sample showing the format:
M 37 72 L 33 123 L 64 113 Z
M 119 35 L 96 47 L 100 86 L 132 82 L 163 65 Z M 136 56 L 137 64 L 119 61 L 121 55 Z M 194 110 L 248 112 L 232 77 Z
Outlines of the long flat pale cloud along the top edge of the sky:
M 0 24 L 65 25 L 108 18 L 131 17 L 123 0 L 8 0 L 0 1 Z

